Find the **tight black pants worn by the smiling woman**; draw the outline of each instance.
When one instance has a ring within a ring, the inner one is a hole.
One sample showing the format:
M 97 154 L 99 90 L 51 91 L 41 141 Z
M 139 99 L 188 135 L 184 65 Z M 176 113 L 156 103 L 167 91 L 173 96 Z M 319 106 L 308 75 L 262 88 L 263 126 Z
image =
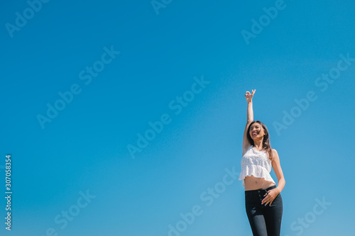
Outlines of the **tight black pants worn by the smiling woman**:
M 268 189 L 256 189 L 245 191 L 246 215 L 248 215 L 253 236 L 280 236 L 281 219 L 283 218 L 283 198 L 281 193 L 276 196 L 271 206 L 261 205 Z

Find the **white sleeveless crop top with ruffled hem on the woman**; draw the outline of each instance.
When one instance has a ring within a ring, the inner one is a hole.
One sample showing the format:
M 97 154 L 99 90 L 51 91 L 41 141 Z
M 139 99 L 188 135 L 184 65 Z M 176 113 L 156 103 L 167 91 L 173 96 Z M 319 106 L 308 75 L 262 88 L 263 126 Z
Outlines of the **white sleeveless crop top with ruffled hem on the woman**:
M 264 178 L 266 181 L 273 182 L 273 178 L 270 175 L 271 172 L 271 159 L 268 159 L 265 151 L 259 151 L 253 148 L 253 145 L 249 147 L 243 157 L 241 157 L 241 174 L 239 180 L 243 180 L 246 176 L 255 176 L 256 178 Z

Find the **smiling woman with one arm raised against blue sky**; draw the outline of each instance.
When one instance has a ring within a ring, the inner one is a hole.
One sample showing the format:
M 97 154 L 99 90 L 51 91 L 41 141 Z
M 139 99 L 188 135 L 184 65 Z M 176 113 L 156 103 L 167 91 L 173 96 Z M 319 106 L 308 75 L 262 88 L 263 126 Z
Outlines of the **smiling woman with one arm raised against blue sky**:
M 280 192 L 285 186 L 285 179 L 278 152 L 271 149 L 268 128 L 261 121 L 253 120 L 252 99 L 255 91 L 246 91 L 245 94 L 248 108 L 239 180 L 243 180 L 246 215 L 253 236 L 280 236 L 283 216 Z M 271 166 L 278 177 L 278 186 L 270 175 Z

